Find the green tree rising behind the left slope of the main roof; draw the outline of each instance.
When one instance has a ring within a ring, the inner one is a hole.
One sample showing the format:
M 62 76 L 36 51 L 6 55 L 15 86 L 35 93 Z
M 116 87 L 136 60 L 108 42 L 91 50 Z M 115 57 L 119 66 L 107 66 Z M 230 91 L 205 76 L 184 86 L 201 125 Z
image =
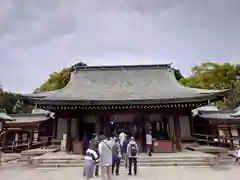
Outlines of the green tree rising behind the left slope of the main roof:
M 69 68 L 62 69 L 60 72 L 50 74 L 48 80 L 45 81 L 40 88 L 36 89 L 35 92 L 54 91 L 64 88 L 68 84 L 71 72 L 76 66 L 86 66 L 86 64 L 79 62 Z

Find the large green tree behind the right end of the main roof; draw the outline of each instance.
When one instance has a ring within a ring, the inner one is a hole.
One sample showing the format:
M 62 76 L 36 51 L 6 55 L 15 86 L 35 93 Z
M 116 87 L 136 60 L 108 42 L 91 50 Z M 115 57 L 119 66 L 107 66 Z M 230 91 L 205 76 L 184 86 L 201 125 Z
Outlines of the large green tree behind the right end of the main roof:
M 220 107 L 235 108 L 240 102 L 239 92 L 240 66 L 230 63 L 202 63 L 192 68 L 190 77 L 180 79 L 180 83 L 193 88 L 230 89 L 225 102 L 218 102 Z

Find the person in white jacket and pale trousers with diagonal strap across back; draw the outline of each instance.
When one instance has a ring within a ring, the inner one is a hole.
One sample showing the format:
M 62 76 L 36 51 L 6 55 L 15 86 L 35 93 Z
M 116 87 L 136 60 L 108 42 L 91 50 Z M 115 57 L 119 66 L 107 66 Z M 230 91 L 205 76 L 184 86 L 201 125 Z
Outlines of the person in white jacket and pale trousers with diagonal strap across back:
M 105 180 L 105 176 L 107 176 L 107 179 L 111 180 L 113 142 L 107 139 L 104 135 L 99 136 L 99 141 L 98 151 L 100 155 L 99 165 L 101 168 L 101 178 L 102 180 Z

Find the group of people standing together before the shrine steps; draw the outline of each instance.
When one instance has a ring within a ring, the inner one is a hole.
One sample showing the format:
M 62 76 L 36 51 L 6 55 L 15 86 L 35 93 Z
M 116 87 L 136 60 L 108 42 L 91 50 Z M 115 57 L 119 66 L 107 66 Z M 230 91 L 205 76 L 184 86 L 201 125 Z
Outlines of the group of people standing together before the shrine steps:
M 111 180 L 112 175 L 119 175 L 121 160 L 125 161 L 128 175 L 137 175 L 138 145 L 134 137 L 127 136 L 124 132 L 107 138 L 104 135 L 93 134 L 89 147 L 85 152 L 83 175 L 87 180 L 99 176 Z

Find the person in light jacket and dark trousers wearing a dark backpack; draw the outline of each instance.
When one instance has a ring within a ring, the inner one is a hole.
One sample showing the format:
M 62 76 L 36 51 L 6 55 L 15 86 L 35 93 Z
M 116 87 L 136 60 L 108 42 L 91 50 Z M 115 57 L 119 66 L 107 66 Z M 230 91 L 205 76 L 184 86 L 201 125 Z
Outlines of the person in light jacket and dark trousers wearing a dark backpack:
M 134 169 L 134 175 L 137 175 L 137 157 L 138 157 L 138 145 L 134 139 L 131 137 L 130 142 L 127 145 L 127 154 L 128 154 L 128 175 L 132 175 L 132 164 Z

